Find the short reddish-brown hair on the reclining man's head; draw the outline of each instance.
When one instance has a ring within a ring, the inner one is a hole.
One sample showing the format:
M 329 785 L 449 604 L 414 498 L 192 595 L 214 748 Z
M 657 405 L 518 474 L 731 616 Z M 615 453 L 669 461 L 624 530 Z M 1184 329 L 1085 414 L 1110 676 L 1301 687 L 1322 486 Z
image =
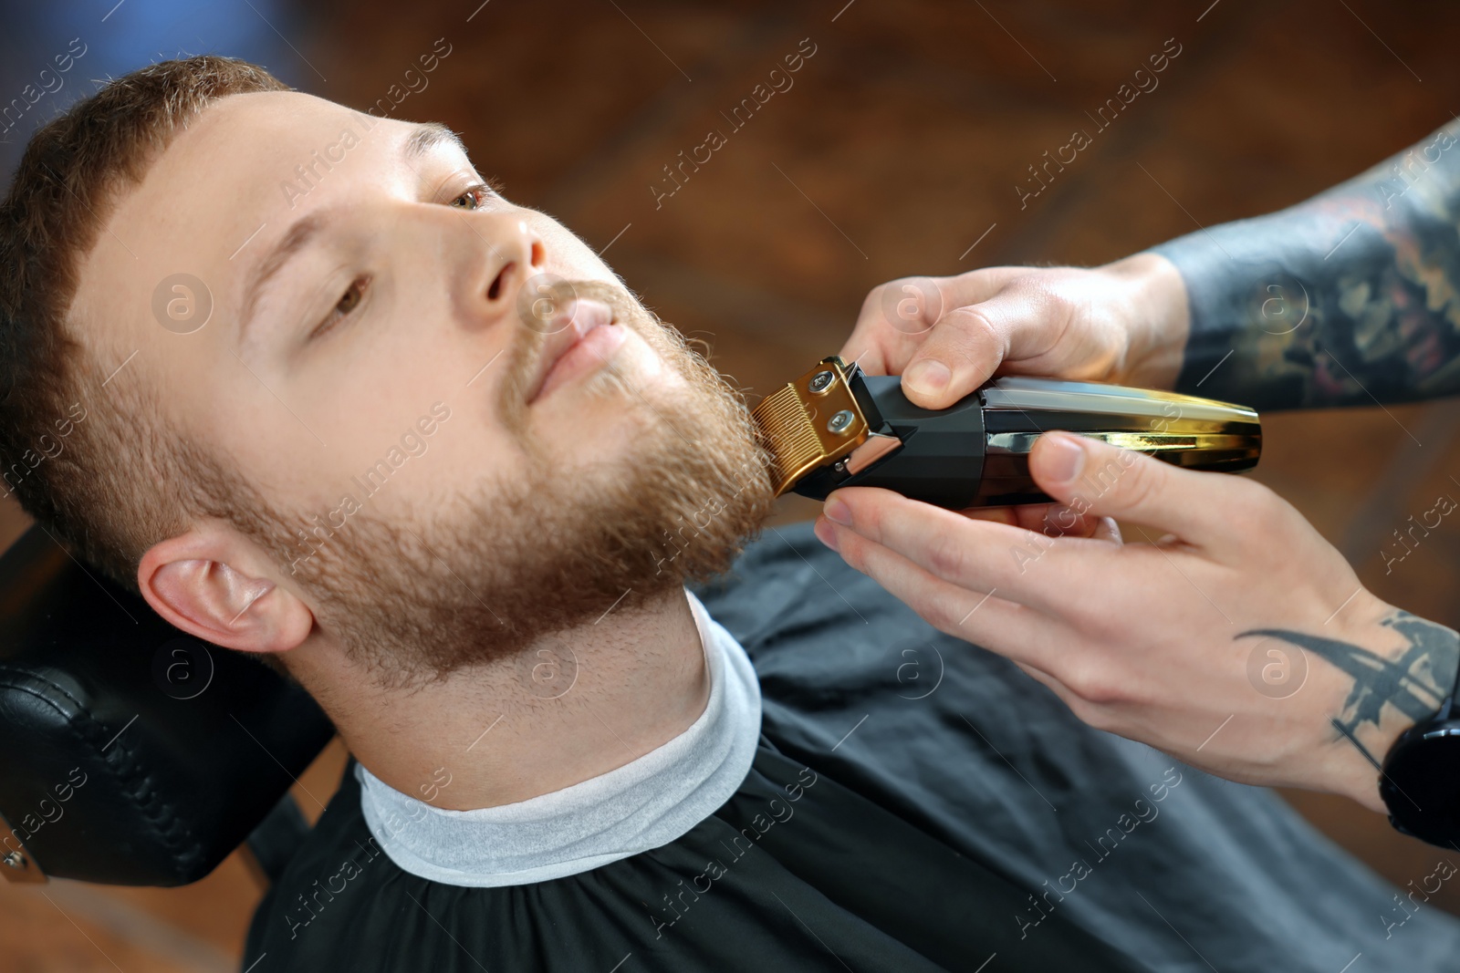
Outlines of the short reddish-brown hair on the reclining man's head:
M 207 451 L 166 429 L 155 382 L 110 381 L 130 352 L 98 322 L 85 340 L 69 328 L 80 264 L 191 118 L 272 90 L 289 86 L 216 55 L 118 77 L 35 131 L 0 203 L 0 496 L 134 592 L 147 547 L 234 495 Z

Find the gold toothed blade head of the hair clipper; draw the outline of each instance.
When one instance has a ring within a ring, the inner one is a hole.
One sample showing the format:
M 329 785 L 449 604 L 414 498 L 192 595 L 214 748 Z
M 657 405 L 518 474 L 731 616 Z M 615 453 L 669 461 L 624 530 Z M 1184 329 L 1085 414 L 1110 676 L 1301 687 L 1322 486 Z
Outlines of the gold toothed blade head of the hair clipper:
M 750 417 L 771 454 L 775 496 L 816 467 L 837 462 L 867 439 L 867 419 L 838 356 L 761 400 Z

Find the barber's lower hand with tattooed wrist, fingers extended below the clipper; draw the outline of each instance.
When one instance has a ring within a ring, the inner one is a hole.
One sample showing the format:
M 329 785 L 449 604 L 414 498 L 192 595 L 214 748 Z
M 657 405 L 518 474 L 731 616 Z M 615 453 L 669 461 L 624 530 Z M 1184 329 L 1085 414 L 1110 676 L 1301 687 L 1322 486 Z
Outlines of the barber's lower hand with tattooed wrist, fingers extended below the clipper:
M 934 627 L 1009 656 L 1094 726 L 1234 780 L 1383 808 L 1377 770 L 1332 721 L 1383 760 L 1402 729 L 1440 708 L 1460 636 L 1365 591 L 1333 546 L 1253 480 L 1064 432 L 1040 438 L 1031 471 L 1069 508 L 1045 512 L 1056 525 L 1079 513 L 1153 530 L 1136 528 L 1127 540 L 1146 543 L 1129 544 L 1108 532 L 1051 537 L 845 487 L 816 532 Z

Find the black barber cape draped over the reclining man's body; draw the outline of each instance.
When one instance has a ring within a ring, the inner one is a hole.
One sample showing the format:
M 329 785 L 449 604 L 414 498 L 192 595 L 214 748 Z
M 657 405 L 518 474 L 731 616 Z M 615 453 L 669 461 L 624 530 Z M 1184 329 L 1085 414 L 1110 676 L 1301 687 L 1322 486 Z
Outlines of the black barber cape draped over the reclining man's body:
M 809 524 L 694 591 L 764 705 L 755 763 L 711 817 L 566 878 L 448 885 L 371 840 L 352 760 L 258 906 L 244 969 L 1460 969 L 1460 922 L 1400 910 L 1275 795 L 1085 726 Z

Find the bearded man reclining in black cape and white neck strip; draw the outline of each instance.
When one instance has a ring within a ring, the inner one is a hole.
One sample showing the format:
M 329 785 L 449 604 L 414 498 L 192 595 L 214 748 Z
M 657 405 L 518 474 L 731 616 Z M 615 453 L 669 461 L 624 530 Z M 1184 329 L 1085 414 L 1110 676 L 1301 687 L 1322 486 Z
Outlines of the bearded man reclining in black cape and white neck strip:
M 1434 909 L 1386 926 L 1399 891 L 1270 795 L 1085 728 L 807 530 L 736 559 L 771 499 L 743 403 L 441 127 L 166 61 L 39 131 L 0 228 L 12 489 L 175 626 L 286 668 L 353 754 L 247 969 L 1460 947 Z

